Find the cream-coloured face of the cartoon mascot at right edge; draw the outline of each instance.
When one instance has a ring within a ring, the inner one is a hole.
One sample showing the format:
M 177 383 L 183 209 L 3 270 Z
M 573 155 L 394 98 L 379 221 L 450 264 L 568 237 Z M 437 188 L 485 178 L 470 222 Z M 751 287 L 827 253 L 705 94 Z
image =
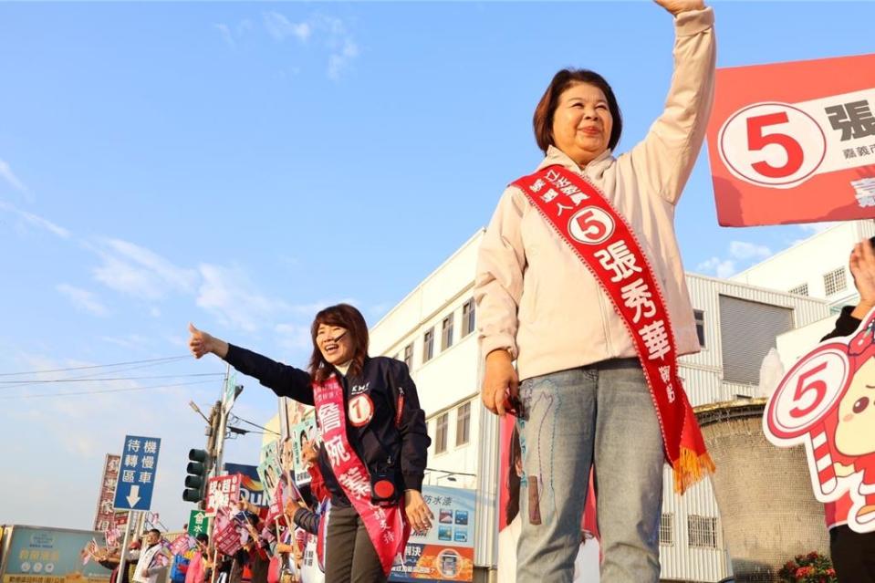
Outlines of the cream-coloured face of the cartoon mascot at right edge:
M 872 428 L 875 428 L 875 358 L 867 359 L 857 370 L 839 402 L 836 428 L 839 452 L 851 456 L 875 452 Z

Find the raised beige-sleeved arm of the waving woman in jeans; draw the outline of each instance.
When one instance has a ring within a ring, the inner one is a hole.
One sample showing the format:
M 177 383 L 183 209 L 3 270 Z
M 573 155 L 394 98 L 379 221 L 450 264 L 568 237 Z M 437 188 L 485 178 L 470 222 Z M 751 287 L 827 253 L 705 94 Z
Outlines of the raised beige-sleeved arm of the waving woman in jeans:
M 630 151 L 644 185 L 676 204 L 702 148 L 714 99 L 714 12 L 702 0 L 656 0 L 674 16 L 674 73 L 665 109 Z

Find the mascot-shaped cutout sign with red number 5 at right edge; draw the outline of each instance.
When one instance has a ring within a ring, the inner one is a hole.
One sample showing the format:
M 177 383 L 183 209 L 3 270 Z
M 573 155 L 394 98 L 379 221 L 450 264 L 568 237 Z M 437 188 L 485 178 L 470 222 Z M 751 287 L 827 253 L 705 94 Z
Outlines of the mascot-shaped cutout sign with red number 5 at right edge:
M 821 342 L 790 369 L 766 405 L 763 431 L 804 445 L 814 495 L 850 501 L 848 526 L 875 532 L 875 309 L 854 334 Z

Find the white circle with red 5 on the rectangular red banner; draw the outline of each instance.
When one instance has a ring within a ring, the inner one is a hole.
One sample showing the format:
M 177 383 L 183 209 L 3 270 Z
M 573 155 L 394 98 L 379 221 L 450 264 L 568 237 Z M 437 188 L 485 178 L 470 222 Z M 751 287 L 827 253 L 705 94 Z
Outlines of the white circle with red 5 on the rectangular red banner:
M 725 121 L 717 138 L 726 168 L 745 182 L 792 188 L 817 172 L 827 137 L 802 109 L 786 103 L 755 103 Z

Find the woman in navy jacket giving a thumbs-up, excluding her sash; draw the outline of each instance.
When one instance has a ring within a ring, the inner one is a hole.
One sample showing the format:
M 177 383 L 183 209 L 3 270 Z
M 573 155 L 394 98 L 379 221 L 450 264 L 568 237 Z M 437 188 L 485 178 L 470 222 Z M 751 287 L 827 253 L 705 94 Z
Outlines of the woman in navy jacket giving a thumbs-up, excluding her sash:
M 422 478 L 431 439 L 407 365 L 395 359 L 368 356 L 368 328 L 355 307 L 346 304 L 320 311 L 311 327 L 313 354 L 309 371 L 276 362 L 189 326 L 189 347 L 195 358 L 214 353 L 235 370 L 255 377 L 277 396 L 314 404 L 314 384 L 336 375 L 343 388 L 346 436 L 351 449 L 370 473 L 394 485 L 412 529 L 431 527 L 432 513 L 422 499 Z M 340 486 L 326 448 L 320 448 L 319 468 L 331 493 L 326 548 L 328 583 L 384 581 L 380 560 L 367 529 Z M 391 502 L 391 501 L 390 501 Z

